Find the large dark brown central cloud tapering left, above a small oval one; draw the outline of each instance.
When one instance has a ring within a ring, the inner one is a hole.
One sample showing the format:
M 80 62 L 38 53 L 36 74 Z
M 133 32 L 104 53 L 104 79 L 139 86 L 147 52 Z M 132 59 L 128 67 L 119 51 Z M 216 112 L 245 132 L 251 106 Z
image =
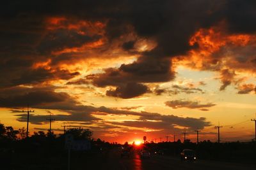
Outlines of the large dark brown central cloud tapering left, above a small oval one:
M 118 86 L 126 82 L 152 83 L 169 81 L 174 78 L 170 71 L 170 60 L 141 58 L 132 64 L 122 64 L 118 69 L 109 68 L 102 74 L 91 74 L 86 78 L 97 87 Z

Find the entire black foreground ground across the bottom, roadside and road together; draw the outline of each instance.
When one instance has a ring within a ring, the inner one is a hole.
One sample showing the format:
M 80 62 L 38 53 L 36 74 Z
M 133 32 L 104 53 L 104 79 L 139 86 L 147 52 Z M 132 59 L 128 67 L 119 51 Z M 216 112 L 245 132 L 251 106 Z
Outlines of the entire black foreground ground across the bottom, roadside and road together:
M 67 169 L 67 152 L 63 152 L 59 157 L 51 155 L 15 155 L 21 158 L 11 162 L 10 166 L 2 166 L 0 169 Z M 28 159 L 26 159 L 26 157 Z M 71 153 L 70 169 L 109 169 L 109 170 L 158 170 L 158 169 L 256 169 L 255 164 L 239 164 L 230 162 L 219 162 L 211 160 L 197 160 L 196 162 L 181 162 L 179 157 L 166 155 L 152 155 L 149 159 L 141 159 L 138 151 L 134 150 L 130 157 L 121 158 L 118 148 L 101 153 Z

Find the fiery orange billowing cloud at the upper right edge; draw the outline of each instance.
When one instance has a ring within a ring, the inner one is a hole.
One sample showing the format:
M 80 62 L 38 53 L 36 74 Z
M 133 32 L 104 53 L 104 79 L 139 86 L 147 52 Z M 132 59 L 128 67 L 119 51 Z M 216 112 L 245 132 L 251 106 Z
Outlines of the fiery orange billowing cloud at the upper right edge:
M 228 34 L 225 24 L 199 29 L 189 40 L 189 45 L 197 48 L 173 58 L 173 65 L 218 71 L 223 83 L 220 90 L 224 90 L 231 83 L 241 83 L 236 80 L 239 74 L 256 73 L 255 39 L 255 34 Z

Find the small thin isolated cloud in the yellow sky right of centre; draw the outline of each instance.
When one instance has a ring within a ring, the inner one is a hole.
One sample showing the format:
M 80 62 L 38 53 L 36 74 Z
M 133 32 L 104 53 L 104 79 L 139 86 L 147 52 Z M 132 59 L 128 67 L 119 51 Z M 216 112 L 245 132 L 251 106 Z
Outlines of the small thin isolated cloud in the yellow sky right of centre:
M 182 101 L 182 100 L 166 101 L 165 104 L 166 104 L 166 106 L 169 106 L 173 109 L 177 109 L 177 108 L 189 108 L 189 109 L 209 108 L 209 107 L 216 105 L 213 103 L 200 104 L 198 101 Z

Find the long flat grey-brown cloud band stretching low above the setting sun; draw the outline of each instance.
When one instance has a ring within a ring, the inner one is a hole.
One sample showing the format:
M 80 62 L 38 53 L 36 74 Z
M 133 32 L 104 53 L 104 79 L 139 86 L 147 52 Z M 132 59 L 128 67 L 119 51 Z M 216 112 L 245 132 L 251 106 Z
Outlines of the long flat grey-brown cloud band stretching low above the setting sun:
M 52 91 L 54 87 L 47 88 L 12 88 L 9 90 L 5 90 L 3 94 L 1 94 L 1 107 L 8 108 L 22 108 L 26 107 L 24 99 L 29 99 L 29 104 L 33 108 L 44 109 L 44 110 L 58 110 L 62 111 L 65 114 L 54 114 L 54 117 L 57 121 L 65 121 L 65 122 L 77 122 L 79 124 L 83 124 L 86 122 L 90 122 L 91 124 L 95 124 L 95 128 L 99 126 L 101 118 L 97 118 L 93 115 L 132 115 L 139 117 L 138 121 L 141 122 L 141 126 L 148 127 L 151 129 L 167 129 L 170 126 L 180 125 L 189 128 L 204 128 L 209 125 L 209 122 L 205 122 L 205 118 L 182 118 L 174 115 L 161 115 L 159 113 L 148 113 L 148 112 L 136 112 L 129 110 L 117 110 L 114 108 L 106 108 L 106 107 L 93 107 L 93 106 L 84 106 L 83 104 L 77 102 L 74 98 L 70 97 L 68 94 L 64 92 L 54 92 Z M 10 95 L 9 93 L 15 94 Z M 9 95 L 8 95 L 9 94 Z M 5 101 L 5 102 L 4 102 Z M 27 115 L 20 113 L 19 110 L 13 110 L 13 113 L 19 113 L 15 115 L 18 121 L 26 122 Z M 45 124 L 47 122 L 47 118 L 49 117 L 47 114 L 45 115 L 36 115 L 35 113 L 31 113 L 30 122 L 31 124 Z M 133 125 L 131 122 L 124 122 L 124 125 L 138 127 L 138 125 Z M 98 124 L 98 125 L 97 125 Z M 114 122 L 111 122 L 113 125 L 118 125 Z M 104 124 L 106 125 L 106 124 Z M 121 125 L 121 124 L 120 124 Z M 92 128 L 93 129 L 93 128 Z

